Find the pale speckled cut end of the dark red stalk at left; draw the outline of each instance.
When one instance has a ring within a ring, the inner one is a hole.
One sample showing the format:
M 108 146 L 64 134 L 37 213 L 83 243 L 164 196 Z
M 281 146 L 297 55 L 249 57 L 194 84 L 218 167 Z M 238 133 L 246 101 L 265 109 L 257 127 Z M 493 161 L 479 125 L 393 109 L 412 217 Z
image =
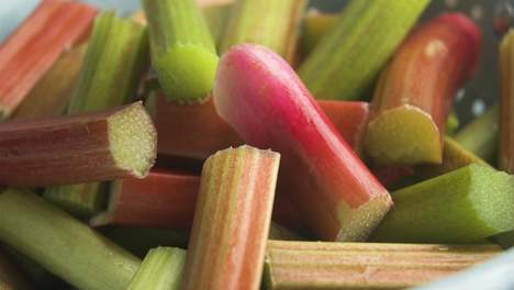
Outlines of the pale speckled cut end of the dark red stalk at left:
M 116 165 L 143 178 L 155 163 L 157 132 L 141 102 L 108 119 L 109 143 Z

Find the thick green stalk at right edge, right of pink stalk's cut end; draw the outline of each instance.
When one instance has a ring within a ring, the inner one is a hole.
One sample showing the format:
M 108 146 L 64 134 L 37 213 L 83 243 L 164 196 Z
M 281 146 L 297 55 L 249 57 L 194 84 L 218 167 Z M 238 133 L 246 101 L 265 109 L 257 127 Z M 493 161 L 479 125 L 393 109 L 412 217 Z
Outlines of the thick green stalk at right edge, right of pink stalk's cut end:
M 472 243 L 514 230 L 514 178 L 469 165 L 392 193 L 372 241 Z

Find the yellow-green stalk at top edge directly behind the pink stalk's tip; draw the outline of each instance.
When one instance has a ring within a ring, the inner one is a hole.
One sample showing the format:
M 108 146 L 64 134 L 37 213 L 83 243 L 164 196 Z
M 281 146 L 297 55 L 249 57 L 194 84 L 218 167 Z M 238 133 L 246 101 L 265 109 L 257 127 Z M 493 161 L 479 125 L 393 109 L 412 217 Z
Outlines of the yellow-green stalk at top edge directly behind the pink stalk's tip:
M 235 3 L 222 41 L 221 52 L 242 43 L 271 48 L 290 64 L 306 0 L 241 0 Z

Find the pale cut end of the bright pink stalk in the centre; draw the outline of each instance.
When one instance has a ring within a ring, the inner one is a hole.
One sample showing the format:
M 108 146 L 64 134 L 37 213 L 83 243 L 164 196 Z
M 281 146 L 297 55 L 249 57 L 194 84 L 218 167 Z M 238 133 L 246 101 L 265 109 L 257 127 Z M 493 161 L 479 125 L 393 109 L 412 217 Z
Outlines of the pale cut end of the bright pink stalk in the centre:
M 365 241 L 382 217 L 392 207 L 391 196 L 386 191 L 358 209 L 350 209 L 346 203 L 340 203 L 337 216 L 342 224 L 336 241 Z M 368 228 L 368 231 L 362 231 Z

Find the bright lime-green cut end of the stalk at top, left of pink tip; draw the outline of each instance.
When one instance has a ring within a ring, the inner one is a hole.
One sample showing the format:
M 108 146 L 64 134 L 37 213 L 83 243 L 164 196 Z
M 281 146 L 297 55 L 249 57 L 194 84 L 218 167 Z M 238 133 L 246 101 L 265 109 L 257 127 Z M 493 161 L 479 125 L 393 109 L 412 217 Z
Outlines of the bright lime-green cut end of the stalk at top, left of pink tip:
M 180 45 L 154 60 L 168 100 L 195 102 L 209 96 L 219 58 L 201 46 Z

